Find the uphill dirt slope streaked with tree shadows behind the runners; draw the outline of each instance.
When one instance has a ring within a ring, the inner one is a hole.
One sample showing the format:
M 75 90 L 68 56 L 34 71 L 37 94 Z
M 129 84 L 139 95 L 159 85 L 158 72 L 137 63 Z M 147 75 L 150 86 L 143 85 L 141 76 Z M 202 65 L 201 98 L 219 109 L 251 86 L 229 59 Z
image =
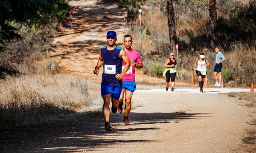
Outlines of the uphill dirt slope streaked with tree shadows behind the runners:
M 117 32 L 117 44 L 121 45 L 125 33 L 123 26 L 125 9 L 97 0 L 71 1 L 70 5 L 79 5 L 83 11 L 75 11 L 74 27 L 71 28 L 67 23 L 55 38 L 55 45 L 50 54 L 61 57 L 62 73 L 83 75 L 87 79 L 99 80 L 92 75 L 99 57 L 99 48 L 106 45 L 105 35 L 112 29 Z

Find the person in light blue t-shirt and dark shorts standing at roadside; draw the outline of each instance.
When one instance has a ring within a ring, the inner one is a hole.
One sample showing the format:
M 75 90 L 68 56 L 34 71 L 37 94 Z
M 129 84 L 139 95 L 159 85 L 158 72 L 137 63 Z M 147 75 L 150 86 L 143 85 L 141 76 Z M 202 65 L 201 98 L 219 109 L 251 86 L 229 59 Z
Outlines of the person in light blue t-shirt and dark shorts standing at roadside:
M 214 79 L 215 79 L 215 85 L 213 86 L 217 86 L 220 87 L 221 86 L 221 80 L 222 80 L 222 74 L 221 74 L 221 68 L 222 68 L 222 62 L 225 60 L 224 55 L 220 52 L 220 48 L 216 47 L 214 49 L 214 51 L 217 53 L 216 54 L 216 65 L 214 68 Z M 218 82 L 219 79 L 219 82 Z

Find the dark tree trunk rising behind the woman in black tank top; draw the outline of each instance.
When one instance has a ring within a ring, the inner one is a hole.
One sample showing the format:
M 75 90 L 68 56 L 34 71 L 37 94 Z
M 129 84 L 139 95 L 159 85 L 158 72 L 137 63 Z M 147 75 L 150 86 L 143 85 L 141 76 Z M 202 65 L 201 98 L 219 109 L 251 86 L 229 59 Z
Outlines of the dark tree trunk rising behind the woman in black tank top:
M 168 26 L 169 26 L 169 37 L 171 43 L 171 49 L 175 52 L 175 44 L 177 43 L 177 35 L 176 35 L 176 28 L 175 28 L 175 19 L 174 19 L 174 8 L 172 5 L 173 0 L 167 0 L 166 8 L 168 12 Z

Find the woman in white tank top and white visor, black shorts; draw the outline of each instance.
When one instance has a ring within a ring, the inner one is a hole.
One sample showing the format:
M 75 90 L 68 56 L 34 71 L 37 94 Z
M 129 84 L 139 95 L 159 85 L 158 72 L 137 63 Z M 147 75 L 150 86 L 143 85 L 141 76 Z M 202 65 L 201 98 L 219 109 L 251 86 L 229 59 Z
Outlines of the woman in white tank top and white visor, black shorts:
M 200 92 L 203 92 L 204 78 L 207 74 L 207 67 L 210 67 L 210 63 L 207 59 L 205 59 L 204 53 L 201 53 L 200 58 L 196 59 L 194 62 L 194 71 L 198 76 Z

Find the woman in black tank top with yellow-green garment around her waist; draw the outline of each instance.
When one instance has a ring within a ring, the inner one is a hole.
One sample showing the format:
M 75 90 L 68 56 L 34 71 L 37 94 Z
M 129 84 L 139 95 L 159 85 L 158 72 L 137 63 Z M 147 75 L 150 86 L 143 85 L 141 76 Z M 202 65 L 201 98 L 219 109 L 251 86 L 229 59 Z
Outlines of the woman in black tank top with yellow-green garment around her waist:
M 163 64 L 165 67 L 165 70 L 163 71 L 163 77 L 166 77 L 166 91 L 168 91 L 170 80 L 172 84 L 172 91 L 174 91 L 175 77 L 179 76 L 176 69 L 177 60 L 174 58 L 174 56 L 174 53 L 170 53 L 170 57 L 166 59 L 166 62 Z

